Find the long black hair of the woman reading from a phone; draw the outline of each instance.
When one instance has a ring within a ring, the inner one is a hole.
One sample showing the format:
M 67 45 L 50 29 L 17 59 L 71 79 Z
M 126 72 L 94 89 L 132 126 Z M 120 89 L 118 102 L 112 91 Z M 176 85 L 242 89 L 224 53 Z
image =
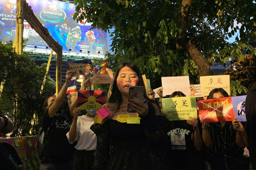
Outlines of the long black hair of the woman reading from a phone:
M 121 94 L 120 90 L 117 87 L 117 77 L 119 75 L 120 70 L 123 67 L 125 67 L 125 66 L 129 67 L 130 69 L 132 69 L 138 75 L 139 82 L 138 82 L 137 86 L 145 87 L 144 81 L 143 81 L 143 78 L 142 78 L 142 74 L 141 74 L 141 71 L 139 70 L 139 68 L 134 63 L 132 63 L 132 62 L 121 63 L 118 66 L 118 69 L 117 69 L 116 74 L 115 74 L 111 96 L 110 96 L 109 100 L 107 101 L 107 103 L 117 103 L 117 105 L 118 105 L 117 110 L 120 108 L 121 103 L 122 103 L 122 94 Z M 144 90 L 144 97 L 148 101 L 156 103 L 154 100 L 151 100 L 151 99 L 149 99 L 149 97 L 147 97 L 146 90 Z M 159 106 L 159 104 L 158 104 L 158 106 Z

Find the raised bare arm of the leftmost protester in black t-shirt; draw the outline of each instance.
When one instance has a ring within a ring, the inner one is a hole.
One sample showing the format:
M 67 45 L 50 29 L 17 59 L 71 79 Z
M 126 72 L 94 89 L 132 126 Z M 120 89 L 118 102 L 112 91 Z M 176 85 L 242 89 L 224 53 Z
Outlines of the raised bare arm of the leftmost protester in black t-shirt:
M 72 75 L 74 75 L 73 71 L 67 71 L 66 82 L 63 85 L 63 87 L 61 88 L 60 92 L 58 93 L 58 96 L 56 97 L 56 99 L 53 101 L 53 104 L 48 109 L 50 118 L 54 117 L 54 115 L 57 113 L 58 109 L 60 108 L 60 106 L 64 100 L 64 97 L 66 95 L 68 85 L 71 82 Z

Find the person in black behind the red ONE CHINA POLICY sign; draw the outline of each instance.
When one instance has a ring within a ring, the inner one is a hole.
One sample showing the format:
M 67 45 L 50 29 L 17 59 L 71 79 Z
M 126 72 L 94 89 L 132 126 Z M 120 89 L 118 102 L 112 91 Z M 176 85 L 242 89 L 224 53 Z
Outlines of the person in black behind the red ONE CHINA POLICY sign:
M 220 97 L 228 97 L 228 93 L 216 88 L 211 90 L 207 99 Z M 242 123 L 235 120 L 233 123 L 235 127 L 231 121 L 202 124 L 203 142 L 208 147 L 207 161 L 211 164 L 211 170 L 249 169 L 248 158 L 243 156 L 246 132 Z

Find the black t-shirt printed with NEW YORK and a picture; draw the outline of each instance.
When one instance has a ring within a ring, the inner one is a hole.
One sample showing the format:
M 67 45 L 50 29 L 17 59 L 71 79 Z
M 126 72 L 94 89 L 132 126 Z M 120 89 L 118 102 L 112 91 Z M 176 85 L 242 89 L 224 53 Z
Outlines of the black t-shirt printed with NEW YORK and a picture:
M 195 133 L 193 126 L 188 125 L 186 121 L 169 121 L 166 133 L 169 144 L 167 164 L 170 169 L 203 169 L 202 154 L 196 150 L 192 140 Z M 202 136 L 202 130 L 200 134 Z

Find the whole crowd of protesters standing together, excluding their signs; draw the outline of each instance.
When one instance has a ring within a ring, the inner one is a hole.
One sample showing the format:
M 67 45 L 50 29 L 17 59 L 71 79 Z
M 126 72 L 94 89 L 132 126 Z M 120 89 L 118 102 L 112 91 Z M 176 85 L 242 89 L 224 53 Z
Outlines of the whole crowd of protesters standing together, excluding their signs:
M 170 121 L 161 104 L 163 88 L 157 90 L 159 100 L 154 98 L 153 90 L 150 95 L 145 90 L 144 98 L 149 102 L 142 103 L 137 98 L 128 102 L 129 87 L 144 86 L 144 82 L 134 63 L 121 63 L 104 104 L 111 114 L 100 124 L 94 123 L 96 110 L 86 110 L 81 116 L 77 98 L 70 100 L 69 96 L 70 104 L 64 107 L 73 74 L 67 71 L 66 82 L 57 97 L 47 97 L 43 104 L 42 126 L 47 136 L 40 170 L 249 170 L 249 166 L 256 169 L 256 83 L 248 89 L 247 122 L 235 118 L 200 123 L 199 117 Z M 84 78 L 80 90 L 92 82 L 93 78 Z M 194 96 L 195 87 L 189 88 Z M 166 98 L 184 96 L 177 91 Z M 207 99 L 220 97 L 228 97 L 228 93 L 216 88 Z M 128 113 L 127 106 L 136 112 Z M 118 122 L 120 114 L 138 116 L 140 124 Z M 9 126 L 11 122 L 0 115 L 1 132 L 9 132 Z M 182 141 L 172 136 L 179 130 L 185 132 Z M 177 147 L 180 144 L 182 148 Z M 245 147 L 250 159 L 243 155 Z

